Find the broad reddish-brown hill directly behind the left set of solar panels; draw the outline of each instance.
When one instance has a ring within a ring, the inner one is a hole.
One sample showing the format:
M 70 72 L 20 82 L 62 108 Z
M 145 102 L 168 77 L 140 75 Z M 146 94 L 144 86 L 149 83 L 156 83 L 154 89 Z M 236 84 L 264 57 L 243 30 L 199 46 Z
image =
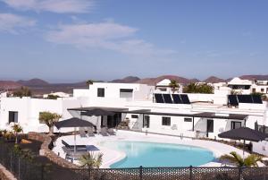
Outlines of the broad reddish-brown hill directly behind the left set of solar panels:
M 148 85 L 155 85 L 156 83 L 158 83 L 159 81 L 163 81 L 164 79 L 175 80 L 175 81 L 177 81 L 179 83 L 182 83 L 182 84 L 188 84 L 190 82 L 198 81 L 197 79 L 189 80 L 187 78 L 180 77 L 180 76 L 177 76 L 177 75 L 162 75 L 162 76 L 159 76 L 157 78 L 145 78 L 145 79 L 138 80 L 136 82 L 137 83 L 148 84 Z

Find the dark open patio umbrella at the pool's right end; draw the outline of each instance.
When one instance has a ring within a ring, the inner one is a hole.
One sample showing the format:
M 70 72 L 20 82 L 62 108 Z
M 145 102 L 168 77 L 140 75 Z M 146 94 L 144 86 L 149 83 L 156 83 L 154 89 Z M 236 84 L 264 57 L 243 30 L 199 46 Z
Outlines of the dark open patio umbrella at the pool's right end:
M 250 129 L 248 127 L 240 127 L 237 129 L 232 129 L 227 132 L 218 134 L 220 138 L 227 138 L 231 140 L 243 140 L 243 159 L 244 159 L 244 149 L 245 141 L 263 141 L 267 138 L 265 133 Z

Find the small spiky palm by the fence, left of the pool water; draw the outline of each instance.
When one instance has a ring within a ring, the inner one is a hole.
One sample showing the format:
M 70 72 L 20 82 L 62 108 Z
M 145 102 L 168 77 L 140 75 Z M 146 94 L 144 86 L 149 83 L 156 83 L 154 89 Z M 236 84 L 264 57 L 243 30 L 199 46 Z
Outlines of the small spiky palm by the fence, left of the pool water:
M 80 157 L 81 167 L 99 168 L 103 162 L 103 153 L 88 152 Z

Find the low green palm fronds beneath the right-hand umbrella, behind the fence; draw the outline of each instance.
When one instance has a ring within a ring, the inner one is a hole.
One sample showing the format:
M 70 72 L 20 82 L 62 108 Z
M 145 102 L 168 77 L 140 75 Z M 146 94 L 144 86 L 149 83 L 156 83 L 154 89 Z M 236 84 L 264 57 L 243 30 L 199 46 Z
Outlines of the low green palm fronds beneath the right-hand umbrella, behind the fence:
M 220 160 L 228 160 L 231 163 L 235 163 L 238 167 L 258 167 L 257 162 L 262 161 L 262 157 L 250 154 L 246 159 L 242 159 L 237 152 L 231 151 L 230 154 L 222 155 Z

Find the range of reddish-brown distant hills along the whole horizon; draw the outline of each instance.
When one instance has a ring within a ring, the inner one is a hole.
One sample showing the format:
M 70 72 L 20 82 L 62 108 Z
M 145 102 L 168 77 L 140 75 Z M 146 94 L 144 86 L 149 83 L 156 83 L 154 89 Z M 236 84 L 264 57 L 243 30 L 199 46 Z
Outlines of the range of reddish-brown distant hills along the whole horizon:
M 268 75 L 242 75 L 240 76 L 241 79 L 247 80 L 268 80 Z M 197 82 L 197 79 L 188 79 L 184 77 L 180 77 L 177 75 L 162 75 L 159 77 L 153 78 L 144 78 L 139 79 L 136 76 L 128 76 L 122 79 L 113 80 L 110 82 L 120 82 L 120 83 L 143 83 L 148 85 L 155 85 L 159 81 L 164 79 L 170 79 L 178 81 L 182 84 L 188 84 L 190 82 Z M 232 78 L 228 79 L 229 81 Z M 221 82 L 221 81 L 228 81 L 223 80 L 221 78 L 211 76 L 205 80 L 205 82 Z M 86 81 L 80 82 L 73 82 L 73 83 L 49 83 L 47 81 L 34 78 L 28 81 L 0 81 L 0 90 L 15 90 L 21 88 L 21 86 L 27 86 L 30 90 L 32 90 L 34 95 L 42 95 L 45 93 L 55 92 L 55 91 L 63 91 L 66 93 L 72 93 L 73 89 L 88 89 L 88 85 Z

